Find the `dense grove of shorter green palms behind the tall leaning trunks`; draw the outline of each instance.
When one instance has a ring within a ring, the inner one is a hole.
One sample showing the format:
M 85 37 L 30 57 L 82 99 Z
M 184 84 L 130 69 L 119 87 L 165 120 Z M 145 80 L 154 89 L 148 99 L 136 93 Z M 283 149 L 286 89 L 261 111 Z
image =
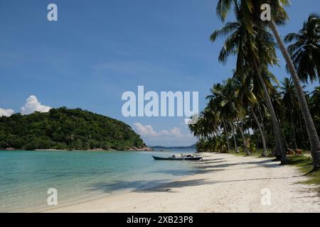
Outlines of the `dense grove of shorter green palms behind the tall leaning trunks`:
M 251 94 L 253 102 L 250 109 L 250 102 L 243 104 L 241 101 L 243 97 L 240 89 L 234 78 L 213 86 L 200 120 L 196 125 L 190 126 L 199 139 L 196 144 L 197 150 L 223 153 L 228 150 L 247 151 L 247 155 L 250 155 L 261 148 L 264 156 L 267 155 L 267 150 L 274 150 L 276 141 L 265 101 L 260 99 L 260 104 L 257 105 L 255 94 Z M 279 85 L 270 89 L 272 104 L 281 123 L 284 147 L 310 150 L 306 126 L 303 124 L 304 119 L 292 80 L 285 78 Z M 320 87 L 316 87 L 313 92 L 305 92 L 305 95 L 320 135 Z

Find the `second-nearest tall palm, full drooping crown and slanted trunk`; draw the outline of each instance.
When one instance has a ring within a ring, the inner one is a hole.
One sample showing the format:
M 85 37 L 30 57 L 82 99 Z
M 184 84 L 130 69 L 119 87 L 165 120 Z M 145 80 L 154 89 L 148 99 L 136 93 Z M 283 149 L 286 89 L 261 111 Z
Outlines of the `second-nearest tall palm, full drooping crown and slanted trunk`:
M 281 162 L 282 164 L 285 164 L 287 162 L 287 157 L 284 152 L 282 135 L 264 79 L 264 75 L 268 72 L 267 65 L 274 65 L 277 62 L 274 41 L 272 35 L 267 32 L 264 27 L 253 26 L 253 24 L 251 26 L 248 25 L 241 6 L 238 6 L 237 1 L 229 1 L 230 4 L 232 2 L 235 4 L 235 16 L 237 21 L 226 23 L 223 28 L 214 31 L 213 34 L 210 35 L 210 40 L 214 42 L 218 36 L 230 34 L 228 38 L 226 38 L 225 44 L 220 51 L 219 61 L 225 62 L 229 55 L 236 54 L 238 74 L 242 74 L 248 68 L 255 70 L 262 86 L 265 101 L 272 116 L 274 137 L 277 140 L 277 148 L 279 148 Z M 220 6 L 225 7 L 223 5 Z M 260 62 L 260 65 L 258 62 Z

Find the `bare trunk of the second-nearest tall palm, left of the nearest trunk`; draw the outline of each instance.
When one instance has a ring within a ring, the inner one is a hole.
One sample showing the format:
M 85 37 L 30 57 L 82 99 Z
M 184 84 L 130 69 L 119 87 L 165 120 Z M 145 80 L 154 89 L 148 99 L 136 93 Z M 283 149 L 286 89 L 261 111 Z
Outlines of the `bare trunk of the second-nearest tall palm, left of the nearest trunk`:
M 279 152 L 280 153 L 280 159 L 281 159 L 281 164 L 285 165 L 287 164 L 287 154 L 284 152 L 284 145 L 283 145 L 283 141 L 282 141 L 282 136 L 281 136 L 281 131 L 280 131 L 280 127 L 279 127 L 279 122 L 277 121 L 277 116 L 274 112 L 273 106 L 272 106 L 272 102 L 270 99 L 270 95 L 269 92 L 267 90 L 267 86 L 265 85 L 265 81 L 262 78 L 262 74 L 260 71 L 260 68 L 257 65 L 257 61 L 253 60 L 254 64 L 255 64 L 255 70 L 257 71 L 259 80 L 262 84 L 262 89 L 263 89 L 263 94 L 265 96 L 265 101 L 267 102 L 267 106 L 268 109 L 270 111 L 271 114 L 271 119 L 272 119 L 272 126 L 274 129 L 274 137 L 277 143 L 276 146 L 276 153 Z M 277 147 L 279 148 L 279 150 L 277 149 Z

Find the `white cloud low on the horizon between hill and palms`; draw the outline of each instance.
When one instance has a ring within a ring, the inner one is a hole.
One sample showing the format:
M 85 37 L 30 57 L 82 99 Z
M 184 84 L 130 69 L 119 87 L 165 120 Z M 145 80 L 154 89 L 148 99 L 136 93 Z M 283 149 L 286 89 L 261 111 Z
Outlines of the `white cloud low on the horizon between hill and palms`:
M 144 126 L 142 123 L 134 123 L 134 130 L 142 136 L 148 145 L 177 146 L 191 145 L 196 142 L 196 138 L 188 130 L 183 133 L 181 128 L 177 127 L 155 131 L 150 125 Z

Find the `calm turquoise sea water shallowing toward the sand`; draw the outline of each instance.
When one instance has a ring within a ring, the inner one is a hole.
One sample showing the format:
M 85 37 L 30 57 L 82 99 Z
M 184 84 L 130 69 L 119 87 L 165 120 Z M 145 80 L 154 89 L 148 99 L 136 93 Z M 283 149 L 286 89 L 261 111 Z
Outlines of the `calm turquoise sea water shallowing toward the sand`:
M 191 150 L 176 151 L 178 153 Z M 196 163 L 154 161 L 174 152 L 1 151 L 0 212 L 41 211 L 48 189 L 58 206 L 147 189 L 196 172 Z

